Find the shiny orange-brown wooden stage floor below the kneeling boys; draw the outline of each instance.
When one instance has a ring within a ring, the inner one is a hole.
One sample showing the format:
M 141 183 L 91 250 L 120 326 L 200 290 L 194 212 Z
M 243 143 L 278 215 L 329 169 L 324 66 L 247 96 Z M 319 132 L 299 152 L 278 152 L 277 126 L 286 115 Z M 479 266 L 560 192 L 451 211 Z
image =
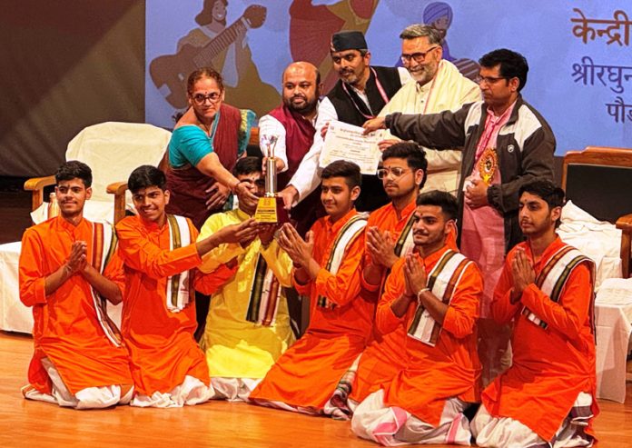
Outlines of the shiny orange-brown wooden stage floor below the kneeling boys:
M 211 402 L 181 409 L 119 406 L 74 411 L 23 399 L 20 387 L 33 341 L 0 332 L 0 447 L 370 447 L 349 423 L 266 409 Z M 632 383 L 627 404 L 602 401 L 596 430 L 600 447 L 632 446 Z M 436 445 L 435 445 L 436 446 Z

